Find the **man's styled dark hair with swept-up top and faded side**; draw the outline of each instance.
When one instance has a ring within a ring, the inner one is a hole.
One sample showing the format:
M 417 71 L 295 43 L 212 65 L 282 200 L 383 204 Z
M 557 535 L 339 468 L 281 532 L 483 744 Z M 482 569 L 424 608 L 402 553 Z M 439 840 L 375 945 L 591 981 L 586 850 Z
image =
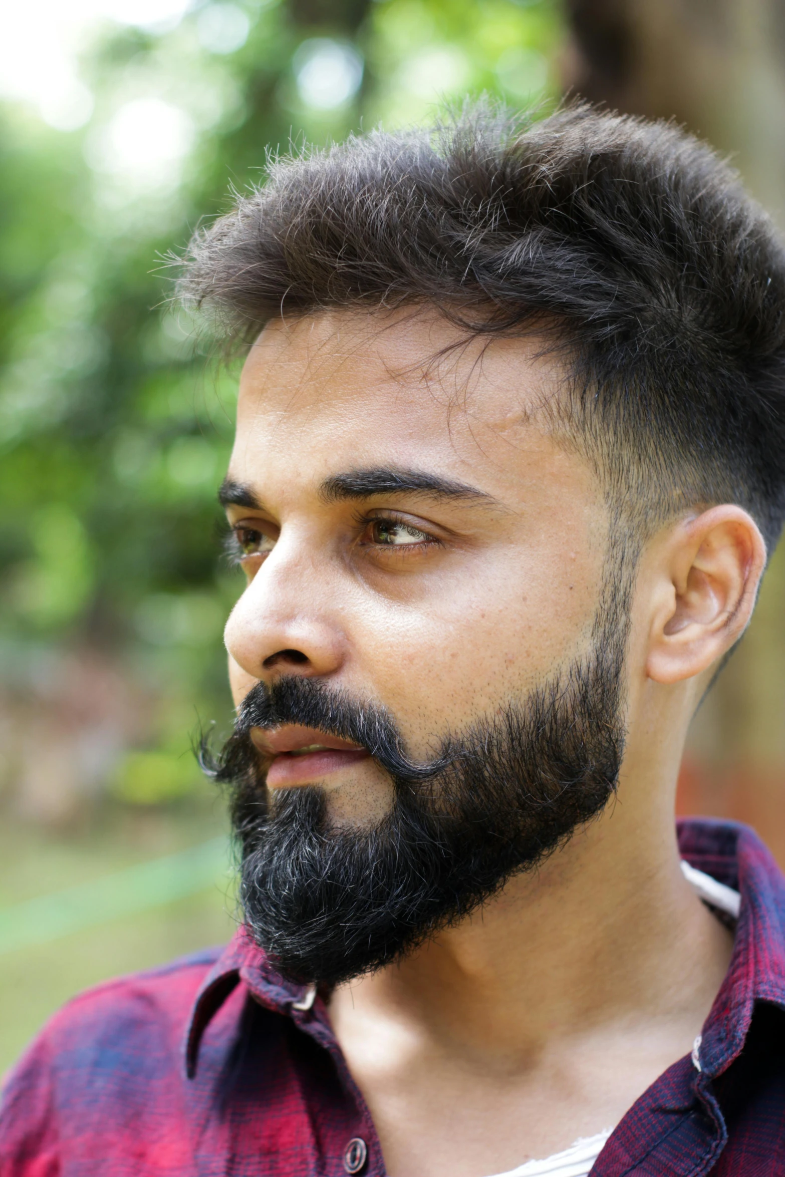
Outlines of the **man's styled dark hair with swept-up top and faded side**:
M 181 295 L 231 338 L 322 308 L 433 305 L 471 334 L 544 333 L 556 415 L 638 534 L 737 503 L 785 519 L 785 252 L 705 145 L 579 105 L 488 102 L 275 159 L 200 228 Z

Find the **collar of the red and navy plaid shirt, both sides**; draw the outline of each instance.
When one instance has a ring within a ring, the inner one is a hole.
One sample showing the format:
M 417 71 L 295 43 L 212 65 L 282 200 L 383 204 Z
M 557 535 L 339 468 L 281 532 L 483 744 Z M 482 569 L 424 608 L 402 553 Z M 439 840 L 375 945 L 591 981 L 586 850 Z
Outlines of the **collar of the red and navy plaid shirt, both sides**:
M 741 1051 L 756 1002 L 785 1008 L 785 878 L 758 836 L 736 822 L 683 820 L 678 836 L 692 866 L 741 895 L 731 965 L 700 1043 L 700 1069 L 709 1079 Z M 189 1078 L 205 1030 L 240 982 L 261 1005 L 297 1020 L 298 1006 L 307 1010 L 311 1004 L 310 986 L 284 980 L 240 927 L 197 995 L 185 1045 Z

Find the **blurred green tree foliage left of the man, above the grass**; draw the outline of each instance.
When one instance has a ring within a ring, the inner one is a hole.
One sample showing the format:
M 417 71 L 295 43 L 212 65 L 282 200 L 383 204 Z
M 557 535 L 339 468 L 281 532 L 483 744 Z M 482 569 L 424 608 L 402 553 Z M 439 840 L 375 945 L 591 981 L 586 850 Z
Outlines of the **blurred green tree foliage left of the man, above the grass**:
M 195 714 L 228 716 L 220 643 L 239 591 L 215 488 L 237 371 L 168 306 L 161 259 L 266 148 L 423 120 L 488 91 L 554 89 L 553 0 L 195 4 L 168 31 L 107 26 L 80 129 L 0 108 L 0 654 L 111 652 L 159 700 L 105 786 L 177 798 Z M 1 685 L 1 683 L 0 683 Z

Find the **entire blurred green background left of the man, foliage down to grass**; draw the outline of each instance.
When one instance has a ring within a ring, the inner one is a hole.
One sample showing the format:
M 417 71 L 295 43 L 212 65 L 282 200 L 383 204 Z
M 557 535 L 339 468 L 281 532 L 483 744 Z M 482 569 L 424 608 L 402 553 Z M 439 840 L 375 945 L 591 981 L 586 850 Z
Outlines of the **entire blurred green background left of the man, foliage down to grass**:
M 247 38 L 219 52 L 204 31 L 226 7 L 97 28 L 79 129 L 0 107 L 0 1071 L 72 993 L 233 926 L 191 742 L 231 722 L 215 490 L 237 371 L 171 306 L 167 255 L 264 180 L 268 146 L 557 91 L 552 0 L 237 0 Z M 314 105 L 331 47 L 361 82 Z M 151 100 L 188 140 L 154 175 L 112 154 Z

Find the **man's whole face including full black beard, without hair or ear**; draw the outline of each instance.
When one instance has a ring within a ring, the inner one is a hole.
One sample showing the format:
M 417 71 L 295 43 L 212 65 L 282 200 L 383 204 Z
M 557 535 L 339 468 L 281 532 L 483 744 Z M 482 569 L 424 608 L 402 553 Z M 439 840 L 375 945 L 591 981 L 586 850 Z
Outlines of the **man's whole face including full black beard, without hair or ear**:
M 386 330 L 381 331 L 380 326 Z M 413 951 L 598 814 L 624 746 L 626 577 L 523 344 L 320 315 L 246 364 L 224 487 L 246 924 L 337 983 Z M 440 377 L 440 378 L 438 378 Z M 607 564 L 607 559 L 606 559 Z

